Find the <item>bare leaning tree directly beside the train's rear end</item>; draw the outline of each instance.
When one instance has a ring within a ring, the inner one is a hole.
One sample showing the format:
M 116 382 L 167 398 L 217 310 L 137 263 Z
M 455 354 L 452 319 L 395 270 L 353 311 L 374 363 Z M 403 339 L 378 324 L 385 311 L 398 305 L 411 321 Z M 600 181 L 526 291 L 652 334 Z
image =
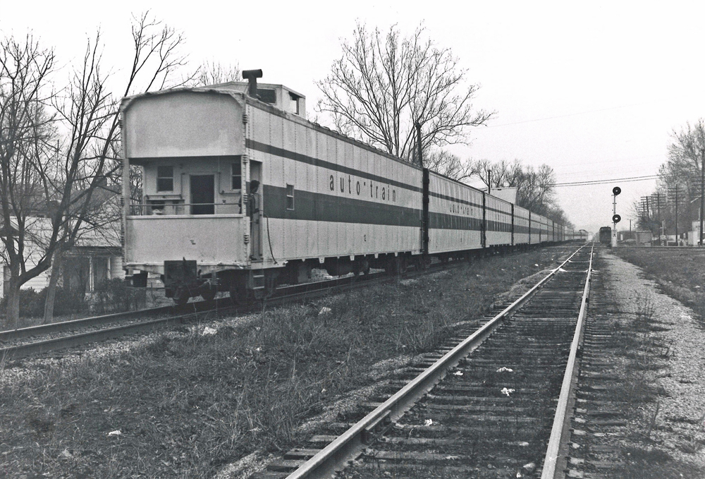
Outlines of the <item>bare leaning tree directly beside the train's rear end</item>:
M 193 79 L 190 75 L 178 82 L 173 80 L 174 74 L 185 66 L 185 56 L 179 49 L 184 39 L 176 30 L 144 13 L 134 18 L 132 33 L 133 63 L 120 96 L 106 90 L 109 76 L 102 73 L 98 33 L 94 42 L 89 40 L 82 63 L 73 71 L 66 97 L 56 104 L 70 133 L 57 168 L 60 174 L 56 186 L 61 202 L 53 222 L 61 234 L 53 248 L 56 267 L 51 270 L 49 278 L 44 322 L 50 322 L 54 315 L 63 253 L 72 248 L 82 234 L 109 229 L 110 224 L 119 221 L 118 208 L 102 207 L 103 201 L 94 201 L 93 198 L 97 191 L 114 194 L 119 191 L 116 174 L 121 171 L 118 157 L 121 97 L 129 95 L 135 88 L 161 90 L 166 86 L 178 87 Z M 42 177 L 49 178 L 50 175 Z M 101 199 L 104 198 L 101 195 Z

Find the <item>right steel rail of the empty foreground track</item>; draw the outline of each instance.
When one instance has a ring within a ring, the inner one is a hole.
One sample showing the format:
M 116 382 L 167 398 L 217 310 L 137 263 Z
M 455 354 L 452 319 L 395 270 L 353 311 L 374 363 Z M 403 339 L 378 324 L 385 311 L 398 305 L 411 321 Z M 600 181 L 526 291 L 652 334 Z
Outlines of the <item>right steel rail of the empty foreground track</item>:
M 587 279 L 585 279 L 585 287 L 582 292 L 582 303 L 580 303 L 580 313 L 577 317 L 577 325 L 575 326 L 575 334 L 573 334 L 572 343 L 570 344 L 570 354 L 568 355 L 568 364 L 565 366 L 563 375 L 563 383 L 560 387 L 558 395 L 558 406 L 556 407 L 556 415 L 553 416 L 553 426 L 551 427 L 551 436 L 548 439 L 546 447 L 546 456 L 544 456 L 544 466 L 541 470 L 541 479 L 556 479 L 556 472 L 563 471 L 563 468 L 557 468 L 558 456 L 563 438 L 567 437 L 565 432 L 568 430 L 568 424 L 565 423 L 565 418 L 568 413 L 568 405 L 575 391 L 577 382 L 577 351 L 580 347 L 582 332 L 585 324 L 585 316 L 587 315 L 587 304 L 590 294 L 590 277 L 592 274 L 592 255 L 594 245 L 590 250 L 590 262 L 587 267 Z M 565 461 L 565 458 L 562 458 Z

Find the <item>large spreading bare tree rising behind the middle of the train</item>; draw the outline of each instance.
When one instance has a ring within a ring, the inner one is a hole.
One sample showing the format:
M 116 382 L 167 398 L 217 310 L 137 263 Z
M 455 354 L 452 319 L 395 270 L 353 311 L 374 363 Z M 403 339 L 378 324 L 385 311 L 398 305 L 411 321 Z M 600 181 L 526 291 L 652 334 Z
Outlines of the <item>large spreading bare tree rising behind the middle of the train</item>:
M 331 114 L 346 135 L 411 159 L 414 123 L 422 124 L 429 152 L 467 143 L 468 128 L 492 115 L 472 108 L 479 85 L 466 84 L 467 71 L 452 51 L 425 39 L 422 26 L 403 38 L 396 25 L 383 34 L 358 23 L 342 47 L 341 59 L 317 82 L 323 93 L 317 111 Z

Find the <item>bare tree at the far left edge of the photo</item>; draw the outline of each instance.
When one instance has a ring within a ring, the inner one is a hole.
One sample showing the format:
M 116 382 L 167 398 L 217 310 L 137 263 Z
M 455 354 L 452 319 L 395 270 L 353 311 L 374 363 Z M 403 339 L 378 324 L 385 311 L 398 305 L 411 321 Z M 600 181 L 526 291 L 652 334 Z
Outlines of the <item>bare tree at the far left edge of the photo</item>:
M 53 69 L 54 51 L 42 49 L 31 35 L 0 43 L 0 240 L 10 269 L 6 314 L 10 326 L 18 319 L 20 286 L 51 264 L 40 255 L 28 265 L 36 252 L 27 240 L 41 236 L 41 222 L 33 218 L 50 199 L 42 195 L 37 162 L 47 155 L 52 133 L 47 104 Z

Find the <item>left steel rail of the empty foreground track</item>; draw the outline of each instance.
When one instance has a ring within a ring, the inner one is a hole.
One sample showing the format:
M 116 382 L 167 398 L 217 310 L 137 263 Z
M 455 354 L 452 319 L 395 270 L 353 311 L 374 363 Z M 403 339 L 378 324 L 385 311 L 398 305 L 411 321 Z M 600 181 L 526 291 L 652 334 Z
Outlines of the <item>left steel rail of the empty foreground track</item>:
M 460 363 L 462 358 L 465 358 L 474 348 L 477 348 L 477 346 L 484 341 L 486 336 L 489 336 L 489 334 L 501 324 L 505 317 L 508 317 L 508 315 L 513 313 L 517 308 L 520 308 L 529 301 L 529 299 L 534 296 L 534 293 L 536 293 L 541 286 L 544 286 L 546 281 L 551 279 L 551 277 L 553 277 L 563 265 L 568 263 L 583 247 L 584 245 L 580 246 L 568 259 L 563 261 L 558 267 L 547 274 L 546 277 L 535 284 L 532 289 L 529 289 L 529 291 L 523 294 L 519 299 L 502 310 L 501 313 L 477 329 L 476 332 L 467 336 L 458 346 L 455 346 L 455 348 L 446 353 L 445 356 L 437 360 L 430 368 L 415 377 L 414 380 L 406 384 L 402 389 L 396 392 L 396 394 L 391 396 L 391 398 L 384 401 L 384 403 L 374 409 L 374 411 L 355 423 L 353 427 L 336 437 L 333 442 L 324 447 L 324 449 L 321 449 L 311 459 L 288 475 L 287 479 L 330 478 L 336 471 L 343 469 L 347 461 L 355 459 L 355 457 L 360 454 L 365 447 L 365 442 L 369 440 L 370 435 L 374 435 L 375 428 L 379 427 L 379 425 L 384 422 L 391 422 L 403 416 L 419 398 L 429 392 L 437 382 L 445 377 L 446 372 L 450 370 L 450 368 L 454 368 L 455 365 Z

